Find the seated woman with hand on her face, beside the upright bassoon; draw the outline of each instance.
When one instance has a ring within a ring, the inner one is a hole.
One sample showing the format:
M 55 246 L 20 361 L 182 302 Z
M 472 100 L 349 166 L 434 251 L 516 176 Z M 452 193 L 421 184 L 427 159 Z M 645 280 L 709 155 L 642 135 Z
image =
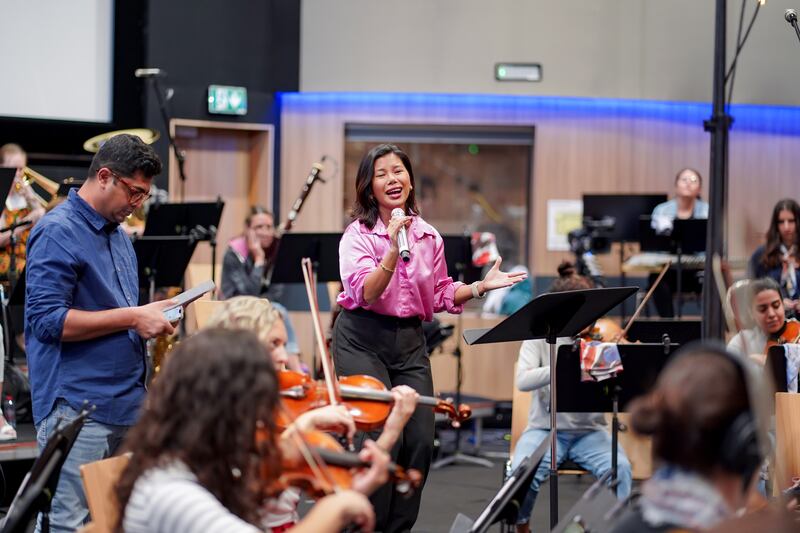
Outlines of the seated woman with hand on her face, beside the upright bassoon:
M 254 205 L 244 220 L 244 233 L 228 243 L 228 249 L 222 260 L 222 283 L 220 290 L 223 298 L 234 296 L 259 296 L 269 298 L 283 317 L 289 343 L 289 367 L 299 370 L 300 347 L 289 319 L 286 308 L 276 300 L 283 295 L 283 285 L 273 283 L 266 285 L 266 275 L 271 267 L 270 261 L 277 239 L 275 238 L 275 220 L 272 212 L 265 207 Z

